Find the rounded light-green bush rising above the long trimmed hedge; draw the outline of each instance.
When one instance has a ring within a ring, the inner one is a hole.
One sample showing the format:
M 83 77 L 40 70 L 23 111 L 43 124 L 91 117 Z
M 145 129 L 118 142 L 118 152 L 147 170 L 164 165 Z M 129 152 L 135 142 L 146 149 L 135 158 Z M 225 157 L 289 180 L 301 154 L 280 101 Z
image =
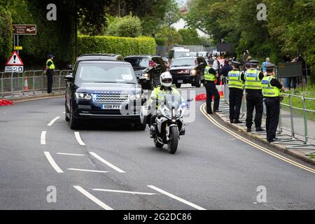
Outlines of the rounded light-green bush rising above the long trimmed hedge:
M 109 36 L 137 37 L 142 34 L 141 20 L 137 16 L 127 15 L 111 19 L 106 34 Z

